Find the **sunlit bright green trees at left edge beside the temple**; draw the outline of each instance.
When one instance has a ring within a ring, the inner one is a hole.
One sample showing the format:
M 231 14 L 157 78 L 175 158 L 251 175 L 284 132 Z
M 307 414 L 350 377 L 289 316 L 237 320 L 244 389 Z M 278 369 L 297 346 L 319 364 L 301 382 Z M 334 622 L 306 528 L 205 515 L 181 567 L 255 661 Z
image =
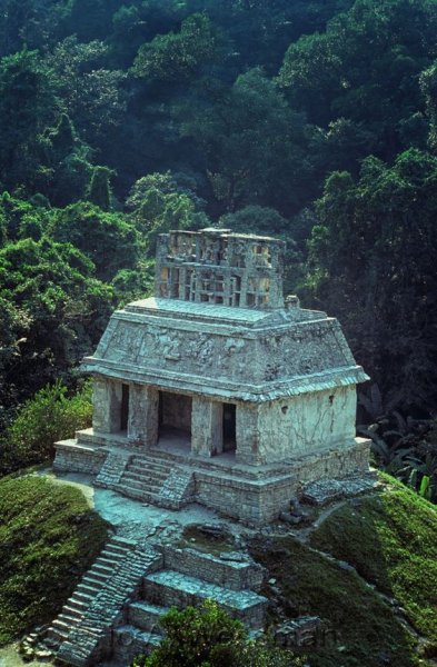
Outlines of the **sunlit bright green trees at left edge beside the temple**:
M 96 346 L 113 295 L 93 272 L 77 248 L 47 237 L 0 250 L 0 299 L 9 303 L 0 330 L 0 402 L 29 397 Z

